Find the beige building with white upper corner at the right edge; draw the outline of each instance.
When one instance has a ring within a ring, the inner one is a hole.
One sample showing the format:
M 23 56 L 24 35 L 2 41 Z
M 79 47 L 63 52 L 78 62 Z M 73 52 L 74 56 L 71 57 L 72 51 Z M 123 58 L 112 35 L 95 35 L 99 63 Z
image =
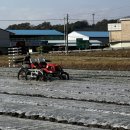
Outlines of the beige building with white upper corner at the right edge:
M 108 24 L 109 42 L 112 48 L 130 48 L 130 18 Z

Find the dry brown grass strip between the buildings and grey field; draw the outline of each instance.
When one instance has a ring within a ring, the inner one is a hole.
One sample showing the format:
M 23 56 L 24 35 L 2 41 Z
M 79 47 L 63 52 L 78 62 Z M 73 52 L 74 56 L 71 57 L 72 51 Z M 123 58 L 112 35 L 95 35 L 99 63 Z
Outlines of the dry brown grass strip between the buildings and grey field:
M 39 55 L 32 55 L 39 57 Z M 63 68 L 92 70 L 130 70 L 130 50 L 43 54 L 42 57 Z M 0 66 L 8 66 L 8 56 L 0 56 Z

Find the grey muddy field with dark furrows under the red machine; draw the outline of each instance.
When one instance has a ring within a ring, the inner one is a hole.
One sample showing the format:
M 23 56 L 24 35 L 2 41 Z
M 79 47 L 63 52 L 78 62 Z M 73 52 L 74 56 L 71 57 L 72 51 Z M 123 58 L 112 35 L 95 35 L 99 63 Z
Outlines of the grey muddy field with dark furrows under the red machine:
M 69 81 L 18 81 L 0 68 L 0 129 L 130 129 L 129 71 L 66 71 Z

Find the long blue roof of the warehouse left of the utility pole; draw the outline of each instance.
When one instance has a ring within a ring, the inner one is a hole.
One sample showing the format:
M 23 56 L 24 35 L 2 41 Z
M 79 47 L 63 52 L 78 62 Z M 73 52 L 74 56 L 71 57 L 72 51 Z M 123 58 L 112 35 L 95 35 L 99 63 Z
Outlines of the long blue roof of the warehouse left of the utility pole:
M 7 30 L 15 35 L 64 35 L 56 30 Z

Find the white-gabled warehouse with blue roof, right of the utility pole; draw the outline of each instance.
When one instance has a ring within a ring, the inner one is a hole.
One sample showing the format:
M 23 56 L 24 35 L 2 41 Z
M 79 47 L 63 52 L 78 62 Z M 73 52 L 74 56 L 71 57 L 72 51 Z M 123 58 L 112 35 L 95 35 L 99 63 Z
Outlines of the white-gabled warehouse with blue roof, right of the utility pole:
M 78 39 L 88 41 L 88 48 L 105 48 L 109 43 L 109 33 L 104 31 L 73 31 L 68 35 L 68 40 L 73 45 L 76 45 Z

